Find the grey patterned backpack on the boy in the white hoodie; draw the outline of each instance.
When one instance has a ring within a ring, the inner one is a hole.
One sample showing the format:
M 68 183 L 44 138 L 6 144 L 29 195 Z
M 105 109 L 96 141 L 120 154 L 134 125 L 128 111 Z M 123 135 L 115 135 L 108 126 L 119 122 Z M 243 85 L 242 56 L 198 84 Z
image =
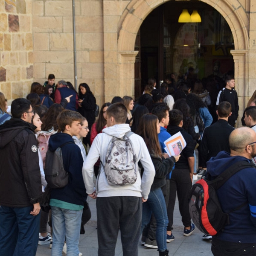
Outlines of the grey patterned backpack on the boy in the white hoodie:
M 105 163 L 102 163 L 108 184 L 130 185 L 137 180 L 137 156 L 129 137 L 133 132 L 128 131 L 124 137 L 113 137 L 108 144 Z

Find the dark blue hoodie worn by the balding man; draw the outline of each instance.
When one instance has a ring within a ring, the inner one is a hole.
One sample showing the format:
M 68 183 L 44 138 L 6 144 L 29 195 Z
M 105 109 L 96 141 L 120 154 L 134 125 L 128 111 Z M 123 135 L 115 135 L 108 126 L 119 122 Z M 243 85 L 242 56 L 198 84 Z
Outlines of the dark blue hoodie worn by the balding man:
M 226 151 L 219 152 L 207 162 L 207 178 L 217 177 L 239 161 L 250 162 L 245 157 L 231 157 Z M 215 238 L 236 243 L 256 243 L 256 169 L 240 170 L 217 190 L 217 194 L 224 212 L 230 212 L 245 202 L 248 204 L 229 213 L 230 224 Z

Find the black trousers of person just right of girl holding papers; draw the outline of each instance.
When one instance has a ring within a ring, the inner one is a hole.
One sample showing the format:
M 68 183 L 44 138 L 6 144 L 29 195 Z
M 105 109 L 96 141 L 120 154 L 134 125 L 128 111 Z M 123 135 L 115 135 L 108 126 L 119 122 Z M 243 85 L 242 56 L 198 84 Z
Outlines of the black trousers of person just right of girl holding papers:
M 167 231 L 172 230 L 173 225 L 173 211 L 176 200 L 176 192 L 179 201 L 179 210 L 181 215 L 181 221 L 184 227 L 191 225 L 191 218 L 189 214 L 189 191 L 191 189 L 192 182 L 190 179 L 189 169 L 174 169 L 172 171 L 172 177 L 170 179 L 170 196 L 167 207 L 167 214 L 169 223 Z

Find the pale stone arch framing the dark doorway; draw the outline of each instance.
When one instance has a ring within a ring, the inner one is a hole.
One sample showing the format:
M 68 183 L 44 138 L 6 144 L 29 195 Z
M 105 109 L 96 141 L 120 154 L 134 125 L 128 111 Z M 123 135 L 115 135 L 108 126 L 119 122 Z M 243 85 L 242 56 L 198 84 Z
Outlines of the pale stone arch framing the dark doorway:
M 239 1 L 219 0 L 198 0 L 216 9 L 227 21 L 234 38 L 235 49 L 231 51 L 235 64 L 236 90 L 239 95 L 239 105 L 245 105 L 245 97 L 248 96 L 248 49 L 249 49 L 249 18 L 244 8 L 241 8 Z M 137 52 L 134 51 L 134 44 L 137 32 L 147 15 L 165 0 L 131 0 L 119 19 L 116 33 L 116 69 L 111 77 L 105 77 L 105 96 L 109 95 L 109 83 L 116 81 L 119 89 L 115 93 L 119 95 L 134 95 L 134 62 Z M 232 3 L 231 3 L 232 2 Z M 104 42 L 105 56 L 109 55 L 108 44 Z M 110 46 L 111 48 L 111 46 Z M 105 62 L 105 70 L 109 70 L 110 63 Z M 113 64 L 113 62 L 112 62 Z M 106 74 L 106 72 L 105 72 Z M 115 76 L 115 77 L 114 77 Z M 116 88 L 115 88 L 116 89 Z

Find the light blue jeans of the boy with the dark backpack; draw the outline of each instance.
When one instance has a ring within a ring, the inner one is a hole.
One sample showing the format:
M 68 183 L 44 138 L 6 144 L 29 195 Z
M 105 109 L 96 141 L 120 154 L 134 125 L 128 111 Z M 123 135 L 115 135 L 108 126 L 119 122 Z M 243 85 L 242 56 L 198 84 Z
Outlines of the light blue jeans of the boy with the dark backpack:
M 67 256 L 79 255 L 82 210 L 74 211 L 52 206 L 52 256 L 62 256 L 65 236 Z

